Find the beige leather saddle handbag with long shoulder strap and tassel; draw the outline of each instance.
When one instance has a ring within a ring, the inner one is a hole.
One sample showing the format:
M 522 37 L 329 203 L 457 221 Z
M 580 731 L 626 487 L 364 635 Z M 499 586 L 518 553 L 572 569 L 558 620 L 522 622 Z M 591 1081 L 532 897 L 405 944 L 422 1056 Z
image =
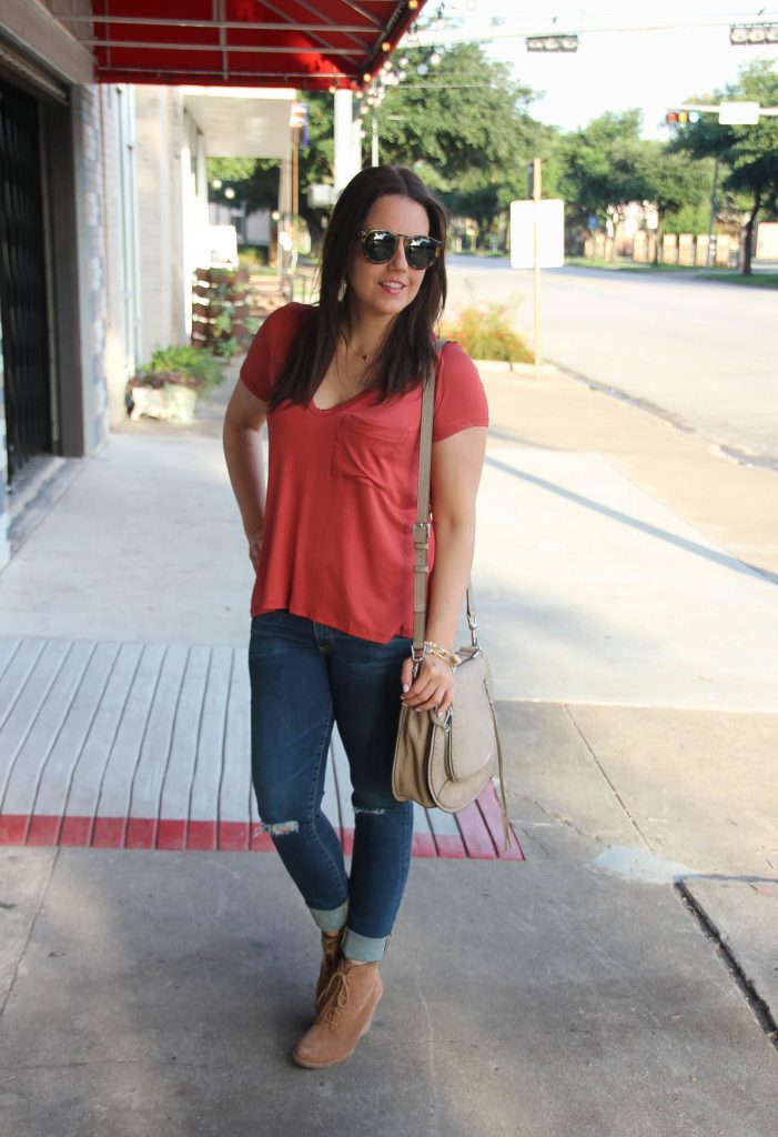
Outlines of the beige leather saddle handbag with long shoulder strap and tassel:
M 440 341 L 437 348 L 445 341 Z M 427 619 L 427 573 L 429 555 L 429 472 L 432 465 L 434 372 L 421 395 L 419 432 L 419 482 L 413 525 L 413 678 L 425 654 Z M 470 644 L 460 647 L 454 667 L 454 694 L 445 716 L 436 709 L 400 711 L 392 765 L 392 794 L 399 802 L 418 802 L 457 813 L 480 794 L 495 767 L 499 772 L 500 806 L 505 849 L 510 848 L 510 825 L 502 772 L 502 747 L 494 711 L 492 672 L 478 642 L 472 581 L 467 590 L 467 623 Z

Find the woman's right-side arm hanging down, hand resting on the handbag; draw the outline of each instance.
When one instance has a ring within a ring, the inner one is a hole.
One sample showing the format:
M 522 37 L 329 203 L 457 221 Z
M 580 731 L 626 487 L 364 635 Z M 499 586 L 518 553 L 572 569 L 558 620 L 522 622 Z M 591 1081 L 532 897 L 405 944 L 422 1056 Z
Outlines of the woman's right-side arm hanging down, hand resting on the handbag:
M 430 490 L 435 523 L 435 567 L 429 578 L 426 638 L 454 649 L 457 622 L 472 566 L 476 536 L 476 493 L 486 451 L 486 428 L 471 426 L 433 445 Z M 444 659 L 425 656 L 410 684 L 411 661 L 403 664 L 403 696 L 420 711 L 451 703 L 453 672 Z

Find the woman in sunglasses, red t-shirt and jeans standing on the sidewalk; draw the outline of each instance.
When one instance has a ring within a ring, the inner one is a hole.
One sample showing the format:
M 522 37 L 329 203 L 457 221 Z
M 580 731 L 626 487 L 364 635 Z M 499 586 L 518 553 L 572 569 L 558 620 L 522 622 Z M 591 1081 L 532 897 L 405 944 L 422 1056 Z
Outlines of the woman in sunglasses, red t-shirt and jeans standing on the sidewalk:
M 262 827 L 321 932 L 316 1019 L 293 1052 L 313 1069 L 353 1053 L 382 996 L 378 962 L 408 877 L 413 820 L 412 804 L 391 790 L 400 704 L 445 713 L 453 692 L 450 653 L 488 418 L 470 359 L 454 343 L 436 355 L 444 242 L 443 209 L 416 174 L 358 174 L 327 226 L 319 304 L 290 304 L 265 321 L 225 418 L 227 466 L 257 571 L 253 787 Z M 434 366 L 436 551 L 427 653 L 413 678 L 421 383 Z M 353 787 L 350 874 L 320 810 L 334 722 Z

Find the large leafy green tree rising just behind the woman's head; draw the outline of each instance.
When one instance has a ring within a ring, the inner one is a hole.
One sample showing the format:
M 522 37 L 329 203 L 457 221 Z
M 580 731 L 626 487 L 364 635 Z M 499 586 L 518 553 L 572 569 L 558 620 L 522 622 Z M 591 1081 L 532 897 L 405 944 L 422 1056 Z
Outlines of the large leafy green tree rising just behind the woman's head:
M 415 167 L 454 214 L 478 223 L 483 239 L 513 198 L 526 197 L 542 132 L 527 111 L 533 91 L 477 43 L 446 49 L 426 75 L 418 49 L 403 55 L 407 76 L 378 109 L 380 161 Z M 368 115 L 368 146 L 369 125 Z

